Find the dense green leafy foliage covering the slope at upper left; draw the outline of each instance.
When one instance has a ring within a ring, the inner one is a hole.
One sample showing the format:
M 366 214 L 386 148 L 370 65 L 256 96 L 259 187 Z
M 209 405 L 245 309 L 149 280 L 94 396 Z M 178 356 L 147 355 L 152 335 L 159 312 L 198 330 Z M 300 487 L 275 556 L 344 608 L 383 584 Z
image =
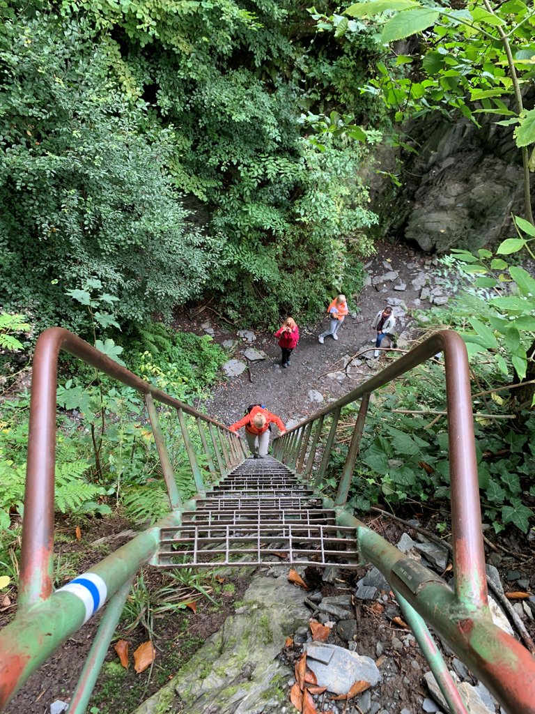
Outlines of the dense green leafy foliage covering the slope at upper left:
M 355 292 L 367 149 L 302 117 L 362 121 L 366 44 L 289 1 L 4 4 L 0 304 L 88 332 L 88 278 L 121 327 L 203 291 L 249 324 Z

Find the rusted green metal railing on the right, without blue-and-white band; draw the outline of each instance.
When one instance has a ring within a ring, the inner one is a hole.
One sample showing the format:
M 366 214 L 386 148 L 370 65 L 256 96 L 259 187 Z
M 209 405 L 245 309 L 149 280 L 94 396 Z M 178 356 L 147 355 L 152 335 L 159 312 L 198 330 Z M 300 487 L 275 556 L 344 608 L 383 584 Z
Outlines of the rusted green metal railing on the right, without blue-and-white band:
M 439 352 L 444 353 L 446 376 L 455 590 L 343 508 L 350 491 L 370 396 Z M 466 709 L 425 622 L 447 640 L 509 714 L 535 714 L 535 658 L 493 624 L 489 611 L 469 366 L 462 338 L 451 331 L 435 333 L 345 397 L 275 439 L 274 456 L 320 486 L 335 442 L 340 412 L 359 400 L 360 410 L 337 494 L 334 501 L 324 499 L 325 508 L 337 508 L 340 526 L 357 528 L 362 559 L 373 563 L 399 595 L 404 615 L 452 713 L 466 714 Z M 330 429 L 322 435 L 328 419 Z M 317 451 L 321 448 L 319 459 Z M 316 461 L 320 462 L 317 466 Z

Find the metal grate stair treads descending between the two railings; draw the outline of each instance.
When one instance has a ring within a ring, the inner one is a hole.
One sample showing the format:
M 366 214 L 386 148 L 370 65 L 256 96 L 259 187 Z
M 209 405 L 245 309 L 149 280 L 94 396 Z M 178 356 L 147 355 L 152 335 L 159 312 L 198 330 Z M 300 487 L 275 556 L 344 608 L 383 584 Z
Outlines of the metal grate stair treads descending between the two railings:
M 214 565 L 356 567 L 356 529 L 337 526 L 312 489 L 272 456 L 246 459 L 185 513 L 162 528 L 160 568 Z

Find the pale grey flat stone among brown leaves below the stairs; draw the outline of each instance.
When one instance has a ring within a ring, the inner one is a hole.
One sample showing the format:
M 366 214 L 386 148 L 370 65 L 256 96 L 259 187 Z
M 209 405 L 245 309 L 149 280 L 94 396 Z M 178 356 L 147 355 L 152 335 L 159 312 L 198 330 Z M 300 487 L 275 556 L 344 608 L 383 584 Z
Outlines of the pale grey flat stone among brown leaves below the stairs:
M 315 673 L 317 685 L 335 694 L 347 694 L 353 683 L 363 680 L 373 687 L 381 678 L 370 657 L 357 655 L 328 643 L 307 643 L 307 665 Z

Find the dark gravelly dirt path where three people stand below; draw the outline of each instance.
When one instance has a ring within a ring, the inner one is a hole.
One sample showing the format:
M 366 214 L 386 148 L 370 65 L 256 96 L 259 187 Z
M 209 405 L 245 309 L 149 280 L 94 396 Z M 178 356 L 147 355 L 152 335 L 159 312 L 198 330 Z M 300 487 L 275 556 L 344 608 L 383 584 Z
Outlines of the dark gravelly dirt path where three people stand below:
M 203 325 L 210 323 L 218 343 L 225 340 L 237 341 L 233 358 L 248 363 L 250 371 L 250 376 L 246 370 L 240 376 L 220 384 L 215 388 L 213 397 L 199 403 L 198 408 L 223 423 L 230 424 L 243 416 L 244 408 L 248 404 L 263 403 L 292 426 L 325 406 L 328 401 L 340 398 L 364 381 L 377 366 L 372 359 L 368 362 L 364 359 L 373 356 L 374 346 L 370 340 L 374 336 L 374 330 L 370 323 L 377 311 L 386 304 L 391 304 L 397 317 L 397 333 L 404 336 L 407 328 L 410 331 L 411 324 L 414 325 L 412 308 L 424 308 L 430 304 L 428 299 L 420 298 L 422 288 L 414 287 L 412 281 L 421 283 L 425 276 L 431 289 L 437 293 L 442 292 L 435 282 L 437 278 L 432 260 L 404 245 L 380 245 L 377 255 L 367 264 L 367 271 L 370 284 L 363 289 L 357 301 L 348 296 L 350 315 L 345 318 L 340 328 L 337 342 L 327 337 L 321 345 L 317 340 L 317 335 L 327 329 L 326 317 L 316 324 L 302 325 L 299 316 L 294 316 L 300 327 L 300 342 L 292 353 L 291 366 L 287 369 L 280 366 L 280 348 L 277 339 L 270 333 L 256 333 L 252 343 L 242 341 L 236 332 L 225 330 L 210 320 L 208 311 L 201 313 L 193 321 L 185 322 L 181 328 L 199 334 L 203 333 Z M 391 273 L 392 277 L 392 272 L 397 273 L 398 277 L 379 281 L 379 278 L 387 273 Z M 394 289 L 394 286 L 399 286 L 400 283 L 406 288 Z M 424 295 L 429 292 L 429 288 L 423 289 Z M 434 299 L 437 299 L 437 296 Z M 264 351 L 267 358 L 250 363 L 243 356 L 248 347 Z M 367 352 L 362 355 L 362 364 L 352 366 L 351 376 L 346 376 L 344 367 L 347 361 L 364 350 Z M 312 401 L 311 391 L 321 395 L 323 401 L 319 401 L 318 395 L 315 395 L 318 401 Z

